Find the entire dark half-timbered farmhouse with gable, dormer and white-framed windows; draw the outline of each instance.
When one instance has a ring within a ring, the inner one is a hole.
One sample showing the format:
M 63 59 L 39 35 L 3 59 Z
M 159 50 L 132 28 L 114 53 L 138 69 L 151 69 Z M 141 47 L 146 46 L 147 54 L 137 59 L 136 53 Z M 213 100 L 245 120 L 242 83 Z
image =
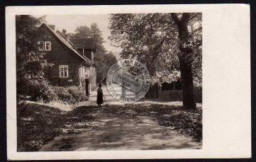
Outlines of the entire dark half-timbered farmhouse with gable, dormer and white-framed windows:
M 60 32 L 55 25 L 46 23 L 38 30 L 38 50 L 45 54 L 43 59 L 53 64 L 44 69 L 44 77 L 53 86 L 81 86 L 89 96 L 96 86 L 93 39 L 70 39 L 66 30 Z

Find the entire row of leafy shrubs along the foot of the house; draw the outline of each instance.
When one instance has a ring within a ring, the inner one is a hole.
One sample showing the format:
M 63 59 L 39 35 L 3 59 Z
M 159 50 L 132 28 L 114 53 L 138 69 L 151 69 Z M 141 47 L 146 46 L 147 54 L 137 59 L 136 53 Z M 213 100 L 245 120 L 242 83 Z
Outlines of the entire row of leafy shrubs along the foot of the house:
M 65 103 L 74 104 L 88 100 L 85 92 L 78 86 L 51 86 L 44 79 L 30 80 L 26 85 L 26 96 L 30 96 L 30 100 L 49 103 L 53 100 L 60 100 Z

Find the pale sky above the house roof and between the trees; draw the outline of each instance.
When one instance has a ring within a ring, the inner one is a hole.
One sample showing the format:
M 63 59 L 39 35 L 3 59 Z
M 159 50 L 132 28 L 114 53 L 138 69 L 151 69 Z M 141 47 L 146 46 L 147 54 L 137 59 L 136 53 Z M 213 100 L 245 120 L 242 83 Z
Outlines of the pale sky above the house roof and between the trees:
M 38 17 L 38 16 L 36 16 Z M 98 14 L 98 15 L 48 15 L 46 16 L 46 21 L 50 25 L 55 25 L 55 30 L 62 31 L 67 30 L 67 33 L 73 33 L 75 29 L 80 25 L 86 25 L 90 28 L 92 23 L 97 23 L 98 28 L 102 30 L 102 37 L 105 40 L 103 44 L 107 51 L 114 52 L 115 55 L 121 52 L 121 48 L 113 47 L 110 45 L 110 40 L 107 37 L 110 36 L 110 30 L 107 28 L 109 26 L 108 14 Z M 116 56 L 117 59 L 119 56 Z

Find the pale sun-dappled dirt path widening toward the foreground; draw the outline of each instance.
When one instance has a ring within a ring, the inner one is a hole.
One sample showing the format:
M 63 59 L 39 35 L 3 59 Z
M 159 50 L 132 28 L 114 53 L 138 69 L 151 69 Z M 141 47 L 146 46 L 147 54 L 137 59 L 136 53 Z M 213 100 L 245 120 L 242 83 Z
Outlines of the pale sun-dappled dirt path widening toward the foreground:
M 55 137 L 40 151 L 201 149 L 202 144 L 132 109 L 114 113 L 103 107 L 93 114 L 92 127 Z

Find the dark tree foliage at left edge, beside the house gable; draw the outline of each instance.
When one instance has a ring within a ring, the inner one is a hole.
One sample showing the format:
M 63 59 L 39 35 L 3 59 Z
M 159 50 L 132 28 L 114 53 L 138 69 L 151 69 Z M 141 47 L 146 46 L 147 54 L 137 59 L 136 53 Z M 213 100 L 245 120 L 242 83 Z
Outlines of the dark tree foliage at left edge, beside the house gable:
M 16 16 L 16 77 L 17 94 L 25 93 L 27 81 L 31 77 L 43 78 L 43 68 L 49 66 L 43 60 L 43 53 L 38 52 L 35 43 L 40 35 L 38 26 L 44 21 L 44 16 L 34 18 L 28 15 Z

